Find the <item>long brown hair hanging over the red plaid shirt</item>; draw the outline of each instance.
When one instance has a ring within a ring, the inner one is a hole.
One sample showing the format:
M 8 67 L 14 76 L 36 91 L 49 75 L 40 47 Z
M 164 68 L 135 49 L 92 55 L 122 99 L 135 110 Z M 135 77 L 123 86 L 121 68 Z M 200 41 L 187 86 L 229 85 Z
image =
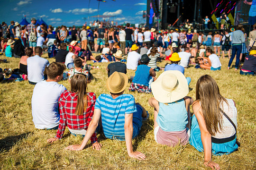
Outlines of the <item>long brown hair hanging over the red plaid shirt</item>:
M 86 77 L 81 74 L 75 74 L 71 79 L 71 92 L 77 93 L 77 104 L 75 108 L 76 115 L 83 115 L 87 108 L 87 83 Z

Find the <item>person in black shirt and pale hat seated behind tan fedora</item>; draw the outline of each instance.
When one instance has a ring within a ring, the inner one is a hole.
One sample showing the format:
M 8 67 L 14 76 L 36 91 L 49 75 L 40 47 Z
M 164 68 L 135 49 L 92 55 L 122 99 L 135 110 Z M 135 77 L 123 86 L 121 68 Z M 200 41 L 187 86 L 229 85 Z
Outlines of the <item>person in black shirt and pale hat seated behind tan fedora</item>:
M 118 50 L 115 54 L 113 54 L 113 56 L 116 58 L 116 62 L 110 63 L 106 68 L 108 70 L 108 76 L 110 77 L 110 75 L 115 71 L 126 74 L 126 64 L 121 62 L 121 59 L 124 58 L 123 52 Z

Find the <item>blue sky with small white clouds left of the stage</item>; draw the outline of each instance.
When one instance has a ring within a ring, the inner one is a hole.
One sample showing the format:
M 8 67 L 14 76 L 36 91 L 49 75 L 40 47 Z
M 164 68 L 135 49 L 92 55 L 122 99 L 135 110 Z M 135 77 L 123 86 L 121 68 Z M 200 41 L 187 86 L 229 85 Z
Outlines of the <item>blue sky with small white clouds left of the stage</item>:
M 91 0 L 89 10 L 89 0 L 0 0 L 0 22 L 5 21 L 9 25 L 11 20 L 20 22 L 26 15 L 28 22 L 31 17 L 42 17 L 48 25 L 81 26 L 85 22 L 84 17 L 95 16 L 99 12 L 100 15 L 117 16 L 110 19 L 119 24 L 145 23 L 142 11 L 146 10 L 146 0 L 106 1 L 100 2 L 98 11 L 97 0 Z M 88 23 L 88 19 L 86 21 Z

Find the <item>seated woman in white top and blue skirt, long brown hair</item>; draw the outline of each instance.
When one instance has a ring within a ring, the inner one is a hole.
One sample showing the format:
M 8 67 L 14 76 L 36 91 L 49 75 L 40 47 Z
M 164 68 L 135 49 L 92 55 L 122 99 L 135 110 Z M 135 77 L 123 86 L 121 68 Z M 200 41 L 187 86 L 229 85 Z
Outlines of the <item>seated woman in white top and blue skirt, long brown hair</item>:
M 205 166 L 219 170 L 211 155 L 229 154 L 239 146 L 236 103 L 220 95 L 219 86 L 211 76 L 203 75 L 196 83 L 192 109 L 190 144 L 204 152 Z

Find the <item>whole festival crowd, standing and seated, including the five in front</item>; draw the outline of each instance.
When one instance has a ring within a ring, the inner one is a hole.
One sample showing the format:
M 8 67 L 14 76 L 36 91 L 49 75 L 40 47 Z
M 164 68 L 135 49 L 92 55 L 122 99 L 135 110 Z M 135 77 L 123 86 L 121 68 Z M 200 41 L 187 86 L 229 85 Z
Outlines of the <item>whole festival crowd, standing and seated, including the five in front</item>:
M 209 75 L 197 81 L 193 100 L 187 96 L 191 78 L 185 77 L 184 71 L 189 65 L 220 70 L 222 45 L 223 58 L 224 51 L 228 52 L 228 69 L 236 56 L 235 70 L 238 70 L 241 54 L 246 54 L 240 74 L 255 75 L 256 24 L 249 34 L 250 49 L 247 50 L 247 35 L 242 25 L 230 32 L 224 30 L 205 35 L 197 33 L 196 29 L 193 33 L 178 29 L 157 31 L 130 27 L 129 23 L 120 30 L 103 27 L 102 23 L 94 30 L 90 26 L 55 29 L 35 23 L 35 18 L 21 28 L 13 21 L 9 27 L 3 23 L 1 50 L 6 57 L 20 58 L 19 69 L 12 71 L 14 77 L 22 75 L 20 78 L 35 85 L 31 102 L 35 127 L 57 130 L 48 143 L 62 139 L 68 127 L 72 135 L 83 136 L 83 141 L 66 149 L 82 150 L 90 139 L 92 147 L 101 150 L 97 134 L 102 132 L 107 138 L 125 140 L 128 155 L 144 160 L 145 154 L 133 151 L 132 139 L 139 135 L 149 113 L 143 107 L 145 103 L 136 102 L 132 94 L 124 94 L 129 69 L 135 70 L 135 75 L 130 77 L 129 91 L 154 95 L 148 103 L 154 108 L 156 143 L 192 144 L 198 151 L 204 151 L 204 165 L 216 169 L 219 164 L 211 161 L 212 154 L 229 154 L 238 149 L 236 103 L 221 96 L 216 81 Z M 212 45 L 214 50 L 210 48 Z M 100 54 L 94 57 L 92 52 L 98 51 Z M 55 62 L 49 63 L 42 58 L 44 52 L 49 58 L 54 57 Z M 157 66 L 157 62 L 164 59 L 170 63 L 165 68 Z M 106 87 L 110 94 L 97 98 L 95 92 L 88 89 L 87 84 L 93 78 L 88 60 L 110 62 L 106 68 Z M 66 68 L 69 69 L 66 79 L 70 82 L 70 91 L 58 84 L 65 78 Z M 156 77 L 160 70 L 164 72 Z M 10 70 L 1 72 L 2 78 L 8 77 Z M 194 113 L 192 119 L 190 105 Z

